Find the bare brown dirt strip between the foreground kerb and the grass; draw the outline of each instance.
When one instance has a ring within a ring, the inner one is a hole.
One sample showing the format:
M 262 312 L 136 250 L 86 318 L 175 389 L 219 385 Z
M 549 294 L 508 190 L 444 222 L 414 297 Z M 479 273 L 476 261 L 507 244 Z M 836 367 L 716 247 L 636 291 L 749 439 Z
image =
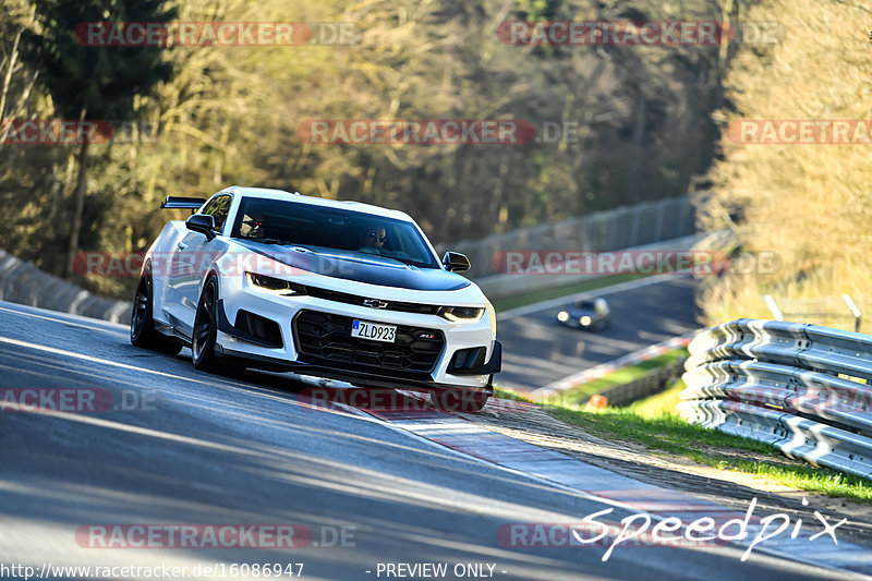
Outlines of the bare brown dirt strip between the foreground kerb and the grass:
M 562 452 L 583 462 L 657 486 L 682 491 L 697 498 L 722 506 L 747 510 L 758 499 L 759 513 L 784 512 L 791 519 L 802 518 L 811 526 L 819 524 L 813 512 L 819 510 L 829 522 L 846 518 L 838 528 L 838 537 L 872 546 L 872 504 L 831 498 L 785 486 L 765 477 L 732 470 L 719 470 L 694 462 L 690 458 L 662 450 L 652 450 L 635 441 L 605 440 L 582 427 L 553 417 L 541 408 L 522 411 L 485 409 L 477 414 L 459 414 L 507 436 Z M 706 451 L 758 460 L 780 465 L 808 465 L 791 458 L 705 446 Z M 802 505 L 802 499 L 809 501 Z

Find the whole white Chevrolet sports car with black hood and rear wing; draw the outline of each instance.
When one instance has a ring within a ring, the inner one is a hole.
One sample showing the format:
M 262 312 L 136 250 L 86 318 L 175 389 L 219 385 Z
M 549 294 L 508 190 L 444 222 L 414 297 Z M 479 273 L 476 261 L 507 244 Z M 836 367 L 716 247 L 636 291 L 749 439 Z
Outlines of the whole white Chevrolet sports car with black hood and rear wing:
M 134 346 L 178 353 L 199 370 L 291 371 L 361 387 L 431 394 L 480 410 L 501 364 L 496 313 L 439 261 L 407 214 L 233 186 L 190 208 L 155 240 L 131 319 Z

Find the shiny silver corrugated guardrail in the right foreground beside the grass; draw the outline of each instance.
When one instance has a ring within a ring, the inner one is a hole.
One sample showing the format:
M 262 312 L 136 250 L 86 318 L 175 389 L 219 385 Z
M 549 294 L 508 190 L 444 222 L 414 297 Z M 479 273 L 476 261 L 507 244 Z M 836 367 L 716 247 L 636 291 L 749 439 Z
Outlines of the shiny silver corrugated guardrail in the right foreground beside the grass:
M 698 335 L 686 370 L 688 421 L 872 479 L 872 336 L 742 318 Z

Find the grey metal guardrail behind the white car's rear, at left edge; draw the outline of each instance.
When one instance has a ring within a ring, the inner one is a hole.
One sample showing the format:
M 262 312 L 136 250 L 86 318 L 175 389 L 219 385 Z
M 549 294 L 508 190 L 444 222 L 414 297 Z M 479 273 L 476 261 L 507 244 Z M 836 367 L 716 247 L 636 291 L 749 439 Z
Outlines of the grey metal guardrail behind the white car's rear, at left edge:
M 2 250 L 0 250 L 0 301 L 123 324 L 130 322 L 133 311 L 133 303 L 93 294 Z

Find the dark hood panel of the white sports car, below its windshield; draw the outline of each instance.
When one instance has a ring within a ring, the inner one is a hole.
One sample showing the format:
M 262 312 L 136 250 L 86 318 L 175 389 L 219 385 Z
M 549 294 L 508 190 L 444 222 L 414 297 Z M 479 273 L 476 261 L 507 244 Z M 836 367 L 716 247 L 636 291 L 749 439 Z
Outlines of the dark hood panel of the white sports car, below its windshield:
M 470 286 L 468 279 L 455 273 L 419 268 L 375 254 L 294 244 L 271 245 L 239 239 L 234 242 L 281 264 L 332 278 L 423 291 L 453 291 Z

